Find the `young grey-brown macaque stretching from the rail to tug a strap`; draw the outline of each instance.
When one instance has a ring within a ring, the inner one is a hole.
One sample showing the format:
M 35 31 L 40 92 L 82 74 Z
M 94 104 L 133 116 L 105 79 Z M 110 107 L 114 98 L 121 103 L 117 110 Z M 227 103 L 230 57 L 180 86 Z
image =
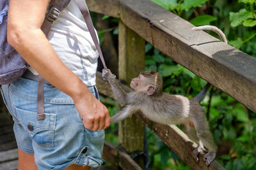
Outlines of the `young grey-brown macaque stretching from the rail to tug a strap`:
M 193 30 L 212 30 L 217 32 L 227 43 L 225 34 L 217 27 L 210 25 L 195 27 Z M 204 155 L 205 164 L 208 166 L 216 155 L 217 146 L 214 143 L 205 113 L 200 106 L 200 101 L 205 96 L 209 83 L 193 98 L 162 92 L 163 81 L 156 71 L 143 71 L 138 78 L 131 81 L 134 92 L 125 92 L 109 69 L 103 69 L 102 77 L 111 85 L 116 100 L 124 108 L 111 117 L 111 122 L 118 122 L 126 117 L 131 117 L 136 111 L 141 111 L 145 117 L 160 124 L 182 124 L 184 131 L 190 139 L 198 143 L 198 148 L 193 151 L 196 161 L 198 153 L 208 152 Z M 205 148 L 204 148 L 205 147 Z

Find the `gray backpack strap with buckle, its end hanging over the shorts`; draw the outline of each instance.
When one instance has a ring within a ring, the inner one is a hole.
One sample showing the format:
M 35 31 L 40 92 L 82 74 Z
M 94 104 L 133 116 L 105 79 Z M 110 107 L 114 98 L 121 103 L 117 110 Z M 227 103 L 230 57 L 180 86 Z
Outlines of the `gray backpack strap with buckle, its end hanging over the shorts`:
M 60 12 L 65 9 L 70 0 L 51 0 L 49 4 L 49 10 L 45 15 L 44 22 L 41 26 L 42 31 L 45 36 L 48 35 L 52 22 L 56 20 Z M 37 117 L 36 120 L 44 120 L 45 112 L 44 112 L 44 78 L 42 76 L 38 77 L 38 92 L 37 92 Z

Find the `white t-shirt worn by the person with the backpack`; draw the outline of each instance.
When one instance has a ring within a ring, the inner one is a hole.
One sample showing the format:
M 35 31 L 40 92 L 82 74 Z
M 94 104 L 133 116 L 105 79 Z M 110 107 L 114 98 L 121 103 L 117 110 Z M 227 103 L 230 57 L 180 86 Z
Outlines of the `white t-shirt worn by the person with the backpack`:
M 99 55 L 76 0 L 71 0 L 61 11 L 47 38 L 70 70 L 87 86 L 95 85 Z

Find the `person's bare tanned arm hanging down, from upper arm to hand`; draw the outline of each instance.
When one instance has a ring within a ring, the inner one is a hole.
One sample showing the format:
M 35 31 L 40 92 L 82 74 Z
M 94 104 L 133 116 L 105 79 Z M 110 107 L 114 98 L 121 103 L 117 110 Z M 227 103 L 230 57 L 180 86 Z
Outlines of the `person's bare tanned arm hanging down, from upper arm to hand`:
M 40 29 L 48 2 L 10 0 L 8 42 L 45 80 L 72 97 L 84 127 L 92 131 L 105 129 L 110 124 L 108 109 L 63 64 Z

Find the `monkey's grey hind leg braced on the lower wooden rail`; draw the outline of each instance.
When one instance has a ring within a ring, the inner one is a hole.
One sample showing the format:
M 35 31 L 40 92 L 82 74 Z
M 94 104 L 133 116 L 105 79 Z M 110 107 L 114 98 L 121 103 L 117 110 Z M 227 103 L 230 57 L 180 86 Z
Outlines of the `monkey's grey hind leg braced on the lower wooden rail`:
M 196 134 L 199 138 L 199 146 L 194 150 L 194 157 L 198 160 L 198 153 L 204 152 L 204 147 L 207 148 L 208 153 L 204 155 L 204 161 L 207 166 L 211 164 L 216 156 L 217 146 L 214 143 L 212 134 L 210 132 L 209 124 L 204 116 L 203 111 L 198 111 L 193 117 Z

